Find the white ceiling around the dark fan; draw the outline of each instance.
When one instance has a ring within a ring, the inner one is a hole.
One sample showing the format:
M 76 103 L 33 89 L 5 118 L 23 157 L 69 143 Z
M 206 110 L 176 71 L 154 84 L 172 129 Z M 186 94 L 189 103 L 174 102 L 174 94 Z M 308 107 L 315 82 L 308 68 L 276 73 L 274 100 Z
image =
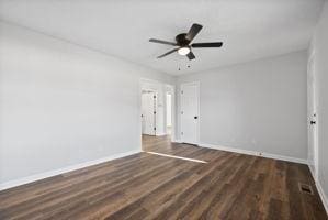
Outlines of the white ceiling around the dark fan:
M 0 0 L 0 19 L 76 44 L 180 75 L 306 48 L 323 0 Z M 194 48 L 194 61 L 169 45 L 192 23 L 194 42 L 223 41 L 222 48 Z M 186 66 L 191 67 L 188 68 Z M 178 70 L 178 68 L 181 70 Z

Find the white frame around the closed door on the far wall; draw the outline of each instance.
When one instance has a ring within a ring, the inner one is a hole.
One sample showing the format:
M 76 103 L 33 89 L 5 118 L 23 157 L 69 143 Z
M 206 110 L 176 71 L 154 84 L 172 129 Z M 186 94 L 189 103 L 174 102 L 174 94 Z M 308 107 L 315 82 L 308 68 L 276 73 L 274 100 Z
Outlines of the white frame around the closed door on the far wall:
M 201 82 L 200 81 L 190 81 L 190 82 L 182 82 L 180 84 L 180 89 L 179 89 L 179 99 L 180 99 L 180 105 L 179 105 L 179 131 L 180 131 L 180 142 L 183 143 L 183 136 L 181 136 L 181 131 L 182 131 L 182 119 L 181 119 L 181 103 L 182 103 L 182 87 L 183 86 L 189 86 L 189 85 L 195 85 L 196 86 L 196 94 L 197 94 L 197 125 L 196 125 L 196 141 L 195 143 L 191 143 L 191 144 L 195 144 L 195 145 L 200 145 L 200 136 L 201 136 L 201 96 L 200 96 L 200 91 L 201 91 Z

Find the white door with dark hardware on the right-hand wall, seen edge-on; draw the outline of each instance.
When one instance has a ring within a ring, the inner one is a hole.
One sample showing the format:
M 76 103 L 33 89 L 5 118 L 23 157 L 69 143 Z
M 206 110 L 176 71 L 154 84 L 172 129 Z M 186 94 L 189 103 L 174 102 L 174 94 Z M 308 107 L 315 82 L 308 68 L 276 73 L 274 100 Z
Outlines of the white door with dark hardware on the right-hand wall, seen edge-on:
M 318 176 L 318 135 L 317 135 L 317 111 L 316 111 L 316 89 L 315 89 L 315 66 L 310 56 L 307 66 L 307 116 L 308 116 L 308 163 L 314 172 L 315 178 Z

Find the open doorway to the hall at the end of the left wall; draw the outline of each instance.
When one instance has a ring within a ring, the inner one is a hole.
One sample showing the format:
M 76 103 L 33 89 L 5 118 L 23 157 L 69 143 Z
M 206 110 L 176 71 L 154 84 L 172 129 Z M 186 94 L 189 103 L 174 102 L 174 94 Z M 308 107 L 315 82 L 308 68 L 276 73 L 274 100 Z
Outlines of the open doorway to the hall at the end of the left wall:
M 140 80 L 142 148 L 170 148 L 174 139 L 174 87 L 151 79 Z M 160 153 L 160 152 L 159 152 Z

